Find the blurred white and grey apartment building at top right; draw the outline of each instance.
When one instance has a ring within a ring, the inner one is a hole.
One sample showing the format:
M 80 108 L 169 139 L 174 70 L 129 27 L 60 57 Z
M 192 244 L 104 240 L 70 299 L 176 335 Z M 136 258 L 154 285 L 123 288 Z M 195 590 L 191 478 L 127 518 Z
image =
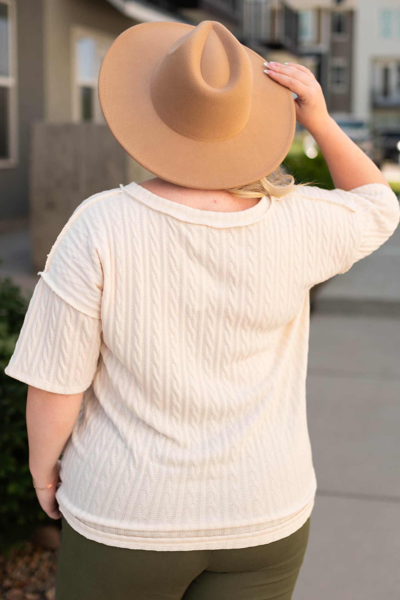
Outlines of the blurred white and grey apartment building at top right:
M 383 158 L 398 161 L 399 0 L 289 0 L 299 60 L 314 67 L 333 115 L 368 122 Z

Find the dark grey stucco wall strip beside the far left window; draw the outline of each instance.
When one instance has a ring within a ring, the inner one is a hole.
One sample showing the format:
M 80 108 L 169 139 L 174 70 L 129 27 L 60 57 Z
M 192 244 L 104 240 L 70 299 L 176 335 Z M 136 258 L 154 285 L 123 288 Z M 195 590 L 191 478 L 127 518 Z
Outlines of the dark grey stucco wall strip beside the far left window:
M 17 165 L 0 169 L 0 220 L 28 212 L 31 121 L 43 117 L 42 0 L 17 0 Z

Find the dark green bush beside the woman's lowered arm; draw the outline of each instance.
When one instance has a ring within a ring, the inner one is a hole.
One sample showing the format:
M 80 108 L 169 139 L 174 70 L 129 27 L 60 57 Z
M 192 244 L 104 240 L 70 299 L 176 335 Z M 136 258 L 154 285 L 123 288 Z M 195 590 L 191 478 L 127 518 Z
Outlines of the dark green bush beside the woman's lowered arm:
M 0 278 L 0 547 L 22 541 L 47 521 L 32 487 L 26 433 L 28 386 L 4 373 L 22 327 L 28 299 Z

